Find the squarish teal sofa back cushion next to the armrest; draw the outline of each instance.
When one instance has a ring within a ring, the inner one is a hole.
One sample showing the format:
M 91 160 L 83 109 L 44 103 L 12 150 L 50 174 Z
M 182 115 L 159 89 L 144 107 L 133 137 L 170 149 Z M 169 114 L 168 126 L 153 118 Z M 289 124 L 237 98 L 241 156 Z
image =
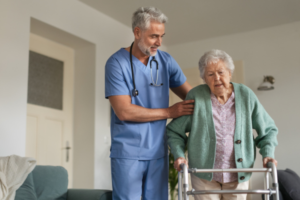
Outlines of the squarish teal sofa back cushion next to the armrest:
M 62 166 L 36 165 L 32 171 L 38 200 L 65 200 L 67 171 Z

